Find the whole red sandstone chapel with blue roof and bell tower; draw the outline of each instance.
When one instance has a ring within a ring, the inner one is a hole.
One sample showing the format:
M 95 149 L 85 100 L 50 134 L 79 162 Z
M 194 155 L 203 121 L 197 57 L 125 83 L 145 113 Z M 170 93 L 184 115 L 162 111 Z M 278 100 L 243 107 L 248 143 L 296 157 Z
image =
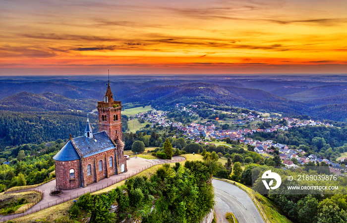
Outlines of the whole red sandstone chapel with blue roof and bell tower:
M 98 102 L 99 132 L 93 133 L 87 118 L 84 136 L 70 138 L 53 157 L 57 188 L 86 187 L 127 171 L 122 142 L 121 102 L 114 101 L 110 82 L 103 102 Z

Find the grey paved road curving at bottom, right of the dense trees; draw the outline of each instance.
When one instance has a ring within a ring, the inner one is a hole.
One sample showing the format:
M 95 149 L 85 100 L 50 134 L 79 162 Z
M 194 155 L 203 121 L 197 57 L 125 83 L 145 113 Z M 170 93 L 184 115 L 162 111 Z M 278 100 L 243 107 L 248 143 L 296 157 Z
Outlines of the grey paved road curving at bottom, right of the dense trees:
M 227 212 L 232 212 L 239 223 L 264 223 L 248 193 L 222 180 L 213 179 L 215 188 L 215 213 L 218 223 L 228 223 Z

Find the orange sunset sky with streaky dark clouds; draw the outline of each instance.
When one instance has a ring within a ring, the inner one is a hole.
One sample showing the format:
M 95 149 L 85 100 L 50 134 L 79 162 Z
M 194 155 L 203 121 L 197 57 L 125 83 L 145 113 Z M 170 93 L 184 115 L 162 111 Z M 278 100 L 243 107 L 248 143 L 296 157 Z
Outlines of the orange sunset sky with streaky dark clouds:
M 347 73 L 347 0 L 0 0 L 0 75 Z

